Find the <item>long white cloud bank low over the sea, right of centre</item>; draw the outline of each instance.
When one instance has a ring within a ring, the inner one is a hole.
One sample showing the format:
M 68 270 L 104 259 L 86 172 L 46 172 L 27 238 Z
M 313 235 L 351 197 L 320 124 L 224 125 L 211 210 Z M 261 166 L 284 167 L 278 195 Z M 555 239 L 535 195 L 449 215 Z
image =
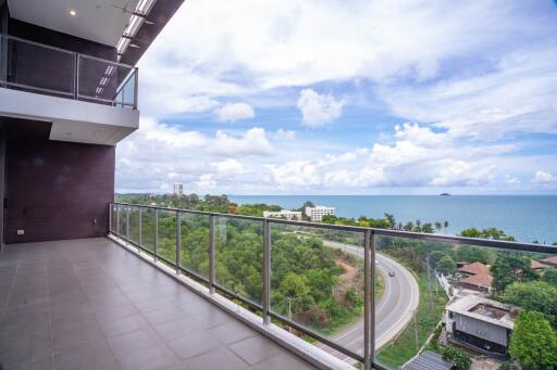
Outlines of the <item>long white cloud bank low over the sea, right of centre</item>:
M 269 166 L 267 180 L 290 190 L 478 187 L 494 180 L 496 155 L 512 150 L 510 145 L 462 145 L 444 132 L 410 124 L 397 126 L 395 138 L 391 145 Z

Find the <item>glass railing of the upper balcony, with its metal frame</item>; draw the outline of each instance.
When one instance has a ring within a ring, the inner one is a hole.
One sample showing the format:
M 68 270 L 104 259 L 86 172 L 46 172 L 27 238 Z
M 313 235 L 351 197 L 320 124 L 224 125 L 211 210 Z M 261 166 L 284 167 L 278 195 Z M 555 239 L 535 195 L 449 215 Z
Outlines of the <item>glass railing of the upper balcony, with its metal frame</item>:
M 0 46 L 2 87 L 137 109 L 134 66 L 12 36 L 0 36 Z

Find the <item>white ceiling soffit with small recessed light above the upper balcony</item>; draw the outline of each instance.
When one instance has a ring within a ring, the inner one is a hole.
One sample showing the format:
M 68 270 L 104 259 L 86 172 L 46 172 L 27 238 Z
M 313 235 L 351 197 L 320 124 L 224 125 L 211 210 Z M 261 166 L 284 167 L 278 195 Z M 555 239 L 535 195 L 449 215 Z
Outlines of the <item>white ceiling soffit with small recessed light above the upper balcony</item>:
M 8 8 L 12 18 L 115 47 L 137 2 L 137 0 L 8 0 Z

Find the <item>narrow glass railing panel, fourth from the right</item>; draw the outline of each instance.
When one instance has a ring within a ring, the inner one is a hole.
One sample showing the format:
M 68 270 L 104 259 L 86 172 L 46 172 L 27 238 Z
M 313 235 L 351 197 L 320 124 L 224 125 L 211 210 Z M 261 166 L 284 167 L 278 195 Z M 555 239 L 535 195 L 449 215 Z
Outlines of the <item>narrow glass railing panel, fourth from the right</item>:
M 181 213 L 181 267 L 209 279 L 209 216 Z

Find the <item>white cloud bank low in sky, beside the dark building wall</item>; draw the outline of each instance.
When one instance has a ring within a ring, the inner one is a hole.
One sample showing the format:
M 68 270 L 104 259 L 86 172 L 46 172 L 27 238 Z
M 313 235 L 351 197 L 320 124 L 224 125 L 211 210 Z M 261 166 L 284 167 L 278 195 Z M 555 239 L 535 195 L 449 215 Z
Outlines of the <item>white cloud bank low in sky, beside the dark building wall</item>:
M 211 136 L 143 118 L 139 130 L 117 144 L 116 189 L 169 191 L 182 182 L 186 191 L 205 193 L 206 187 L 248 181 L 242 162 L 270 158 L 273 152 L 262 128 Z

